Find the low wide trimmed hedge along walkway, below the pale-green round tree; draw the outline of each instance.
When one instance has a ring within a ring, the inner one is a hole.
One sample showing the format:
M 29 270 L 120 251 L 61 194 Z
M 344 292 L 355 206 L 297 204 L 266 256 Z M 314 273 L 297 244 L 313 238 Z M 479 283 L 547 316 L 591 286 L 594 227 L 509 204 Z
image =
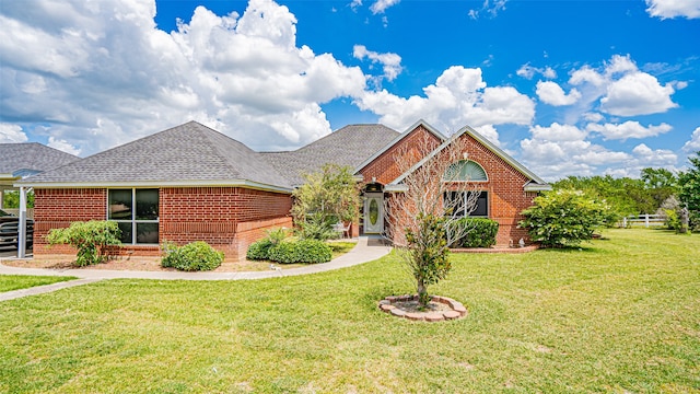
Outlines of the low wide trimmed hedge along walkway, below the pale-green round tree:
M 273 245 L 269 240 L 261 240 L 248 247 L 246 257 L 281 264 L 316 264 L 330 262 L 332 251 L 330 246 L 318 240 L 284 241 L 277 245 Z

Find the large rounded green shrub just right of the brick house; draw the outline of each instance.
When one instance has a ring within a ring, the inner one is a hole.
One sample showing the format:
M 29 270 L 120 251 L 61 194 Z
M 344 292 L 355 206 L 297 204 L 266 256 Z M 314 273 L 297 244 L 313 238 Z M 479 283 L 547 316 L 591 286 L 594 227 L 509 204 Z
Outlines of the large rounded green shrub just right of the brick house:
M 607 207 L 580 190 L 550 192 L 535 198 L 535 206 L 523 211 L 521 227 L 544 246 L 576 246 L 593 237 L 603 224 Z

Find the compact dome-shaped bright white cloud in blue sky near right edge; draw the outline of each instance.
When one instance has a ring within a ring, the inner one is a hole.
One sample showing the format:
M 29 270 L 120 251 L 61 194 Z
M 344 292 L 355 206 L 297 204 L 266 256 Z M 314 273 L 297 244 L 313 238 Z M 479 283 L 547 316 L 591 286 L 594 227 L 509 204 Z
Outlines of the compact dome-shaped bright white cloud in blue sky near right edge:
M 674 92 L 670 84 L 662 86 L 651 74 L 633 72 L 607 86 L 606 96 L 600 99 L 600 109 L 619 116 L 664 113 L 678 106 L 670 100 Z

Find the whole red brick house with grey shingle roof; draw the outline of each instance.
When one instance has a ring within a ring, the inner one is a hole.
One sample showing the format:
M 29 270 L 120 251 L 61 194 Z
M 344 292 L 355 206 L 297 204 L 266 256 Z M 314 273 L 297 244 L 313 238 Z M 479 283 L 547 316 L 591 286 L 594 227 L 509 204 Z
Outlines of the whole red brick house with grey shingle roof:
M 549 186 L 470 128 L 469 158 L 485 171 L 485 216 L 501 224 L 498 242 L 525 235 L 520 211 Z M 383 199 L 397 190 L 402 174 L 393 154 L 419 138 L 438 148 L 445 137 L 424 121 L 399 134 L 382 125 L 353 125 L 295 151 L 254 152 L 243 143 L 190 121 L 150 137 L 18 182 L 35 193 L 34 253 L 50 229 L 77 220 L 115 220 L 124 253 L 159 254 L 159 244 L 202 240 L 230 258 L 276 227 L 291 227 L 291 194 L 304 173 L 323 164 L 354 169 L 364 181 L 364 207 L 351 233 L 382 233 Z M 374 202 L 373 202 L 374 201 Z M 366 218 L 364 218 L 366 217 Z

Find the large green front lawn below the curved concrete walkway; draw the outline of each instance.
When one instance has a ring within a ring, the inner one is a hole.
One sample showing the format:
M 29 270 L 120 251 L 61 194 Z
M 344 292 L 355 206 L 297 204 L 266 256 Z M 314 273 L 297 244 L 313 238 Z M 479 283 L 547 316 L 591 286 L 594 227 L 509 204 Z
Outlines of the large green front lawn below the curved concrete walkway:
M 376 308 L 388 256 L 260 281 L 109 280 L 0 303 L 0 392 L 700 391 L 700 236 L 609 230 L 581 251 L 453 255 L 459 321 Z

